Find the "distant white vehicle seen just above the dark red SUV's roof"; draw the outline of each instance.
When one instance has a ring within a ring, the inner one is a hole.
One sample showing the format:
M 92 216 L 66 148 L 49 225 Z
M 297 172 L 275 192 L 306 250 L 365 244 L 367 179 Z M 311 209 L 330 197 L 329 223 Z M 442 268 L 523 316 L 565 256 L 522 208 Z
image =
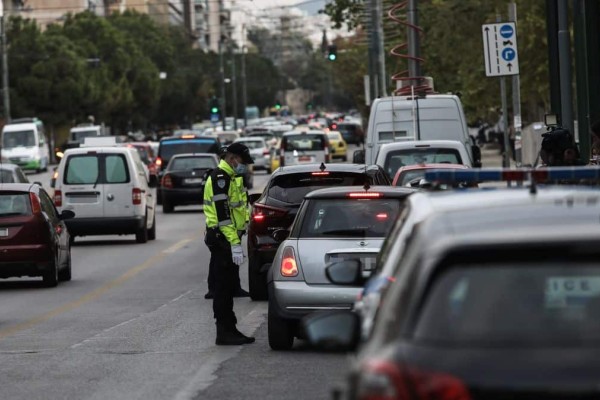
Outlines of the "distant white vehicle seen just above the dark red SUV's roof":
M 291 131 L 281 137 L 279 165 L 328 163 L 329 139 L 323 131 Z

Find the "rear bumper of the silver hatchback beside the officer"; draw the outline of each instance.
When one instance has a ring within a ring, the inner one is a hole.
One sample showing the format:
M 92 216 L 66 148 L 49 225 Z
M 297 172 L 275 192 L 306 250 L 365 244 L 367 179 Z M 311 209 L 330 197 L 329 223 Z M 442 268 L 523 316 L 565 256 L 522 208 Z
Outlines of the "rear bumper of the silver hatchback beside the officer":
M 301 319 L 327 310 L 351 310 L 360 287 L 308 285 L 303 281 L 269 282 L 269 302 L 280 318 Z

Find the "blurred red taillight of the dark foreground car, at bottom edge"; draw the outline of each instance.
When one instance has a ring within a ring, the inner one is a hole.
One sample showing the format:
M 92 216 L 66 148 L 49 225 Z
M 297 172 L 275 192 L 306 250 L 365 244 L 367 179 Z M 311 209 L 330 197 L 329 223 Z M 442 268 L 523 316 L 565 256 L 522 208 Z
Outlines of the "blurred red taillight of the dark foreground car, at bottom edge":
M 356 397 L 360 400 L 471 399 L 465 385 L 451 375 L 400 368 L 388 361 L 366 364 L 359 377 Z

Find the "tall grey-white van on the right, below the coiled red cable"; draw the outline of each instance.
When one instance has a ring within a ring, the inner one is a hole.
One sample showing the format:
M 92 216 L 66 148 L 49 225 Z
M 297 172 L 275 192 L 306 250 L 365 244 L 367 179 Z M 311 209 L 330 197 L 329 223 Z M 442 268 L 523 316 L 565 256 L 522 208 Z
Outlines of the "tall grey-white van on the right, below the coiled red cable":
M 376 99 L 369 115 L 364 162 L 374 164 L 383 143 L 409 140 L 459 141 L 466 147 L 471 165 L 481 166 L 479 147 L 469 135 L 458 96 L 430 94 Z

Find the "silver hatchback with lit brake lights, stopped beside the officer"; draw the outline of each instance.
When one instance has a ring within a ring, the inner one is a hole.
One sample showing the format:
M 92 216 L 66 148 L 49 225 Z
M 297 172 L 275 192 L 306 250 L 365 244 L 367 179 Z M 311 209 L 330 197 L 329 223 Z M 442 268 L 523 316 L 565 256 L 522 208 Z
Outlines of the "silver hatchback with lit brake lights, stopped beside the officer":
M 351 309 L 361 287 L 334 285 L 328 265 L 359 260 L 369 275 L 383 240 L 415 189 L 389 186 L 335 187 L 308 193 L 267 277 L 268 336 L 274 350 L 301 337 L 299 321 L 314 311 Z

